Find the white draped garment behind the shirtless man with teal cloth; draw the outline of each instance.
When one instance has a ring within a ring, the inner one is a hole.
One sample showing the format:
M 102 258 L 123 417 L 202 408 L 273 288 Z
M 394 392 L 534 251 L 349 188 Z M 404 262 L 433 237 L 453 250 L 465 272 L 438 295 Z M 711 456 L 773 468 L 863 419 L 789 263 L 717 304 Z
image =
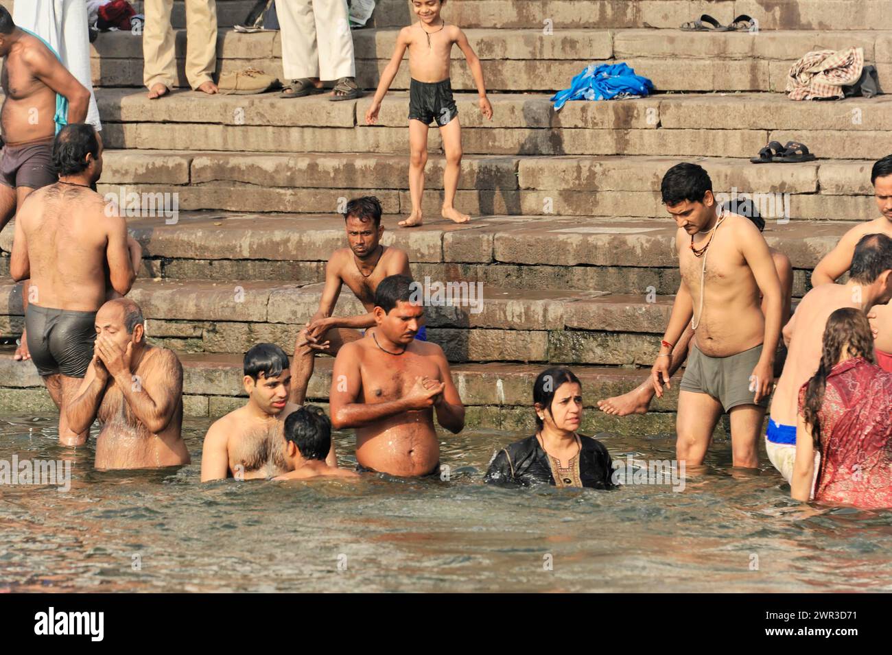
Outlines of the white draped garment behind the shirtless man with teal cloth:
M 103 128 L 93 94 L 90 72 L 90 35 L 87 28 L 86 0 L 27 0 L 12 8 L 12 20 L 53 46 L 62 65 L 90 92 L 87 123 Z

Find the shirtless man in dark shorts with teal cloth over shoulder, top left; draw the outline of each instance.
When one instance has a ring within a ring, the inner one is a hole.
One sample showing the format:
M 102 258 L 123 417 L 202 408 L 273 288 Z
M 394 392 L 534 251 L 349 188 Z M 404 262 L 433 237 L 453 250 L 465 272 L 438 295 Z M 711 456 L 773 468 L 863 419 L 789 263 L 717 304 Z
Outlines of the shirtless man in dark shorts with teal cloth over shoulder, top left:
M 15 216 L 30 192 L 53 184 L 53 139 L 66 123 L 87 118 L 90 92 L 62 66 L 39 37 L 12 22 L 0 7 L 0 73 L 4 102 L 0 109 L 4 147 L 0 154 L 0 230 Z M 57 99 L 67 101 L 57 105 Z M 27 286 L 27 285 L 26 285 Z M 28 359 L 22 334 L 15 359 Z

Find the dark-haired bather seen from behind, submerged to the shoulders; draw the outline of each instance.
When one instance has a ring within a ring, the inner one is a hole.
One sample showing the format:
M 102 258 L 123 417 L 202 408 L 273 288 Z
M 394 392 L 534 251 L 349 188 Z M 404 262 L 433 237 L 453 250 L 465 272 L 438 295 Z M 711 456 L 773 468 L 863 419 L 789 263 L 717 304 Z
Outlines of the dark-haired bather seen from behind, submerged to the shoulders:
M 283 438 L 283 454 L 290 471 L 273 479 L 359 478 L 356 471 L 326 463 L 332 447 L 332 424 L 321 407 L 303 405 L 288 414 Z

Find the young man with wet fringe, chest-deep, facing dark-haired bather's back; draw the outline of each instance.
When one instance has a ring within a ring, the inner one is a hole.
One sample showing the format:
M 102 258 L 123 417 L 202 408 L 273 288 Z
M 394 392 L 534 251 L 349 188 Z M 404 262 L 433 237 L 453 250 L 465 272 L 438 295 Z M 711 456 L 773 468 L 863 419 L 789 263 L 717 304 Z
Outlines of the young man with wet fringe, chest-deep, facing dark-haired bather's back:
M 268 479 L 291 469 L 285 459 L 285 419 L 297 405 L 288 403 L 291 373 L 285 350 L 259 343 L 244 354 L 248 402 L 211 425 L 202 447 L 202 482 L 214 479 Z M 326 462 L 337 466 L 335 444 Z

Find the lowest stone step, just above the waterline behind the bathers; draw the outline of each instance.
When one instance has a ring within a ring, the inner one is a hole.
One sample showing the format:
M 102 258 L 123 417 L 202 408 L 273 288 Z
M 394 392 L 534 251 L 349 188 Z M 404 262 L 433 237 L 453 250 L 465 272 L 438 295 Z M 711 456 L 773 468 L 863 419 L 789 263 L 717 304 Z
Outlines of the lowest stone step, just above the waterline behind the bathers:
M 188 417 L 215 418 L 244 405 L 242 355 L 194 355 L 178 352 L 183 363 L 183 401 Z M 308 399 L 326 405 L 331 388 L 331 357 L 317 358 L 310 379 Z M 466 405 L 466 428 L 532 430 L 533 381 L 540 364 L 456 364 L 452 379 Z M 617 434 L 657 434 L 674 430 L 676 385 L 662 399 L 655 399 L 652 412 L 617 419 L 599 412 L 597 401 L 637 386 L 646 370 L 599 366 L 574 366 L 582 381 L 583 402 L 588 408 L 582 430 Z M 12 348 L 0 348 L 0 404 L 6 413 L 54 412 L 33 364 L 12 360 Z

